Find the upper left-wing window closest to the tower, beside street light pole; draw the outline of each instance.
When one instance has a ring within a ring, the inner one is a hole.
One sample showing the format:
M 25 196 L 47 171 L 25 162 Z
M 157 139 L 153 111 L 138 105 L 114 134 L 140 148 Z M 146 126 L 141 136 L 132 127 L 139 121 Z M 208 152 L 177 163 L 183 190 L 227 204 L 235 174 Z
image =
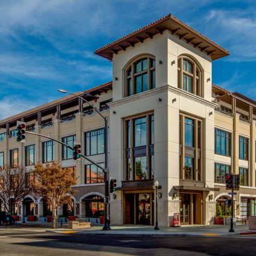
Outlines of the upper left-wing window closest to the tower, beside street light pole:
M 104 154 L 104 129 L 86 133 L 86 155 Z

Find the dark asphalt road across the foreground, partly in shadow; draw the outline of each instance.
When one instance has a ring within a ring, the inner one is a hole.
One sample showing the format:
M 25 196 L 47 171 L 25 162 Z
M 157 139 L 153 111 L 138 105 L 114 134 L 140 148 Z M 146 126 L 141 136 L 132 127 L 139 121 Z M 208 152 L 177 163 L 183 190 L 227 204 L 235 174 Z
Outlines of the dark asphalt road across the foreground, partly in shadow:
M 256 255 L 256 236 L 147 237 L 0 229 L 0 255 Z

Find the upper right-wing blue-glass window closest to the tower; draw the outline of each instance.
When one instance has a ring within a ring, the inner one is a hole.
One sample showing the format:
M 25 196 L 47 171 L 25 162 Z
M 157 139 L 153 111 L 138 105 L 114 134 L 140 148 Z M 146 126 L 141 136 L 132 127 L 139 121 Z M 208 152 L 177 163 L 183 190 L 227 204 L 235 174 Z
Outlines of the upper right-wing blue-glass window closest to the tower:
M 215 154 L 230 157 L 231 134 L 215 129 Z

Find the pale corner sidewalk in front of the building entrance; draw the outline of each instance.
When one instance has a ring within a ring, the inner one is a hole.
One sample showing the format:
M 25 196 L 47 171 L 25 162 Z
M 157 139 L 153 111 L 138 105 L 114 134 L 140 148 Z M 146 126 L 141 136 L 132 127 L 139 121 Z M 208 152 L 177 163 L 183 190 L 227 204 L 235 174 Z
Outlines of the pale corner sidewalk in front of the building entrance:
M 111 230 L 102 231 L 102 225 L 93 225 L 86 229 L 47 229 L 60 234 L 101 234 L 111 236 L 240 236 L 243 234 L 256 234 L 249 230 L 248 225 L 235 225 L 234 233 L 228 232 L 229 226 L 222 225 L 187 225 L 177 228 L 160 227 L 154 230 L 154 226 L 137 225 L 111 225 Z

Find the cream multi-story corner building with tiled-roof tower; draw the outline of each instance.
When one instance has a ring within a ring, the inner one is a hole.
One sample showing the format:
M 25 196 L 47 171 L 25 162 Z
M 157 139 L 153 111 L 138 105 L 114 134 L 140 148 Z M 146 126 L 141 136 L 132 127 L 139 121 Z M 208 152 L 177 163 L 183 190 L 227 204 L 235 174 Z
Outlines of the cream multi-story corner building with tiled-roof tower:
M 95 52 L 113 62 L 113 82 L 78 93 L 108 116 L 110 143 L 104 149 L 104 122 L 75 96 L 17 114 L 0 122 L 0 165 L 61 160 L 78 178 L 73 197 L 75 215 L 104 210 L 104 178 L 87 161 L 72 160 L 69 149 L 27 134 L 15 139 L 16 121 L 28 130 L 51 134 L 83 154 L 104 163 L 117 191 L 110 197 L 111 223 L 153 225 L 154 198 L 158 222 L 206 224 L 229 198 L 225 173 L 240 174 L 236 216 L 255 214 L 256 102 L 212 84 L 211 63 L 228 51 L 172 15 L 163 17 Z M 160 189 L 155 195 L 154 182 Z M 26 209 L 46 214 L 43 198 L 32 195 Z M 67 206 L 59 209 L 63 215 Z M 19 214 L 22 214 L 19 208 Z

